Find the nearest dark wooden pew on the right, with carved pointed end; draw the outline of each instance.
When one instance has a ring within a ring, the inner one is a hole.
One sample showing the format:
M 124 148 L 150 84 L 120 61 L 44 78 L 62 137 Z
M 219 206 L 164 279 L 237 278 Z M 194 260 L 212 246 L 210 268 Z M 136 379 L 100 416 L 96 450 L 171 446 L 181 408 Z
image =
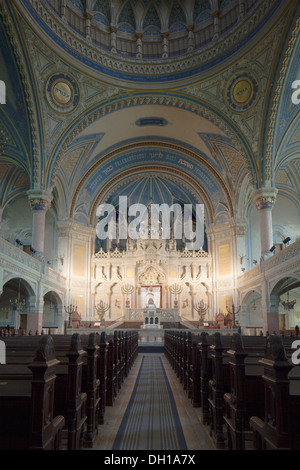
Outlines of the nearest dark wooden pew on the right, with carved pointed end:
M 290 372 L 294 365 L 289 361 L 282 338 L 267 338 L 266 352 L 259 361 L 263 366 L 264 419 L 252 416 L 255 450 L 299 450 L 300 387 L 291 388 Z

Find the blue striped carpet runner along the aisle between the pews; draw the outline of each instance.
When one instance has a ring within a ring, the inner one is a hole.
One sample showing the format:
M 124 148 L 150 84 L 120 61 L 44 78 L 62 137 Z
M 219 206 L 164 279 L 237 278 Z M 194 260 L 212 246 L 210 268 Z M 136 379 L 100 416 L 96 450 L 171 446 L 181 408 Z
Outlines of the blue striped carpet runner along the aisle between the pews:
M 143 356 L 112 449 L 187 450 L 174 396 L 160 356 Z

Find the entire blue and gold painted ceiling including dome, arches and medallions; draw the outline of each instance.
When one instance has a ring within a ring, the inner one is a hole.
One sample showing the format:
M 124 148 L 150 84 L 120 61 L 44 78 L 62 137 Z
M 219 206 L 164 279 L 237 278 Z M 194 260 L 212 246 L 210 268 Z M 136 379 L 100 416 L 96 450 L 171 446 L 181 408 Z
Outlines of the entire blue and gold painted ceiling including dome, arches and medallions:
M 299 63 L 298 6 L 4 0 L 2 160 L 26 172 L 29 189 L 53 193 L 59 217 L 82 225 L 94 225 L 100 202 L 144 201 L 150 180 L 157 203 L 203 202 L 208 224 L 244 216 L 264 184 L 294 199 L 298 167 L 287 160 L 298 152 L 299 112 L 288 88 L 299 67 L 288 64 Z

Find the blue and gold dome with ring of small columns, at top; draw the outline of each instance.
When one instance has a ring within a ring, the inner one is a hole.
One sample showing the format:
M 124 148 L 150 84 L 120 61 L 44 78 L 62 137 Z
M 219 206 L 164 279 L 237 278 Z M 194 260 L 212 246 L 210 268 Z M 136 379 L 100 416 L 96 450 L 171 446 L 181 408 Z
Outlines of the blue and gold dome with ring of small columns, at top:
M 209 71 L 260 39 L 280 15 L 268 0 L 48 0 L 22 15 L 56 52 L 110 81 L 166 83 Z M 42 37 L 41 36 L 41 37 Z M 227 64 L 226 64 L 227 65 Z

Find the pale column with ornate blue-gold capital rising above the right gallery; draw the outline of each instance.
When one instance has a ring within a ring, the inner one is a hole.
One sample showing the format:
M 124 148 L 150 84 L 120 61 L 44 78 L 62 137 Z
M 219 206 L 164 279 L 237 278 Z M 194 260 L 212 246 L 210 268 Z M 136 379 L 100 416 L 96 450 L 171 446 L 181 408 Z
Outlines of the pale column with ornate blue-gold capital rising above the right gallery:
M 261 188 L 252 194 L 253 203 L 259 213 L 261 257 L 271 256 L 273 246 L 272 209 L 276 201 L 276 188 Z

